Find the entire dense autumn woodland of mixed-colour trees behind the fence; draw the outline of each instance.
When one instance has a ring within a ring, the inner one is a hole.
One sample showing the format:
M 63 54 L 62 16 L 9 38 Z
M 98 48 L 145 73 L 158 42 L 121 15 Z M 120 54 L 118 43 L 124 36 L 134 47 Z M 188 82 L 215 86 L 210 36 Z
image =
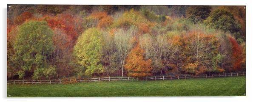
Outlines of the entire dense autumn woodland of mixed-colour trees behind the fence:
M 245 71 L 245 6 L 7 8 L 8 79 Z

